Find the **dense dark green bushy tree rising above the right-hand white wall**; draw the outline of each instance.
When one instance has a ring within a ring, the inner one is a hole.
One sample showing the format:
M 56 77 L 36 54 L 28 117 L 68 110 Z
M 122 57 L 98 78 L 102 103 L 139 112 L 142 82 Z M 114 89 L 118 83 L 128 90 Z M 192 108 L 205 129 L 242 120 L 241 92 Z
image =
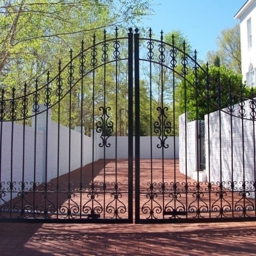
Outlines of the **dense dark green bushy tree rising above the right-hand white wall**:
M 241 92 L 250 97 L 250 90 L 242 83 L 241 74 L 221 65 L 220 67 L 192 70 L 177 87 L 179 113 L 188 112 L 189 120 L 203 120 L 204 115 L 227 108 L 239 102 Z M 186 86 L 186 87 L 185 87 Z

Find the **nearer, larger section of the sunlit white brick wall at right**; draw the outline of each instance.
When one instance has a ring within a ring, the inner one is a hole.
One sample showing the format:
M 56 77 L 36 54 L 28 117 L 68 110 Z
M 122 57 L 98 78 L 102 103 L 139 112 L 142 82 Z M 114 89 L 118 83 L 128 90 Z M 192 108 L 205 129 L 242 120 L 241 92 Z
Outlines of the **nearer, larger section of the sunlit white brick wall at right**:
M 249 101 L 244 105 L 244 118 L 250 119 L 251 109 Z M 229 187 L 228 181 L 236 181 L 239 190 L 243 180 L 252 186 L 255 180 L 255 138 L 253 138 L 252 120 L 242 120 L 239 116 L 239 106 L 234 106 L 232 120 L 227 113 L 216 111 L 205 116 L 205 145 L 207 179 L 212 182 L 223 181 Z M 220 121 L 221 120 L 221 121 Z M 220 125 L 221 122 L 221 125 Z M 232 122 L 232 126 L 231 126 Z M 243 126 L 242 126 L 243 125 Z M 233 149 L 232 149 L 233 147 Z M 233 175 L 233 176 L 232 176 Z

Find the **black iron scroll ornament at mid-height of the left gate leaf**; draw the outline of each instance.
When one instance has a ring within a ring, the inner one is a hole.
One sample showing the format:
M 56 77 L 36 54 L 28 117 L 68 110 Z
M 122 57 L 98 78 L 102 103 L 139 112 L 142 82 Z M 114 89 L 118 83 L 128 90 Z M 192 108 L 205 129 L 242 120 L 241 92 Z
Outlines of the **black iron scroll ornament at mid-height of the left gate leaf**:
M 107 142 L 109 136 L 114 131 L 114 124 L 112 121 L 109 121 L 108 111 L 111 110 L 109 107 L 100 107 L 100 111 L 102 111 L 102 115 L 100 116 L 100 121 L 96 124 L 96 131 L 101 132 L 100 138 L 102 139 L 102 143 L 99 143 L 99 147 L 110 147 L 111 144 Z

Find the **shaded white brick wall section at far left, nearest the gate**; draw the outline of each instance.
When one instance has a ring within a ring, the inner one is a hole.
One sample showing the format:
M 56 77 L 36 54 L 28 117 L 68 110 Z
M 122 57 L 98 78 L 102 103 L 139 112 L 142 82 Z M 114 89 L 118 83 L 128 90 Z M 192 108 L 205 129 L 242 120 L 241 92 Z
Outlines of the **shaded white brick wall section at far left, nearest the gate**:
M 19 182 L 22 182 L 23 169 L 24 181 L 28 182 L 29 188 L 31 187 L 30 182 L 33 182 L 34 180 L 34 170 L 36 172 L 35 180 L 42 182 L 42 170 L 44 168 L 44 132 L 41 130 L 35 131 L 32 127 L 25 127 L 25 147 L 23 151 L 23 131 L 23 125 L 13 123 L 12 126 L 11 122 L 3 122 L 3 137 L 1 141 L 1 182 L 3 182 L 2 185 L 4 188 L 8 188 L 9 184 L 7 182 L 10 181 L 14 182 L 14 188 L 20 188 Z M 11 143 L 12 134 L 13 150 Z M 23 158 L 24 166 L 22 164 Z

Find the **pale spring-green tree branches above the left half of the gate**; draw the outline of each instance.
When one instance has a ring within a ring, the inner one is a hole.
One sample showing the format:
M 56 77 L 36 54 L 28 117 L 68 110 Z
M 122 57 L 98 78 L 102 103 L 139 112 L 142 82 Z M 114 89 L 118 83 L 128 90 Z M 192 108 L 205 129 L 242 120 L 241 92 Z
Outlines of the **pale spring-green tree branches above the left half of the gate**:
M 0 81 L 7 87 L 34 83 L 48 70 L 58 70 L 70 47 L 92 42 L 92 31 L 131 26 L 150 12 L 150 0 L 2 1 Z

